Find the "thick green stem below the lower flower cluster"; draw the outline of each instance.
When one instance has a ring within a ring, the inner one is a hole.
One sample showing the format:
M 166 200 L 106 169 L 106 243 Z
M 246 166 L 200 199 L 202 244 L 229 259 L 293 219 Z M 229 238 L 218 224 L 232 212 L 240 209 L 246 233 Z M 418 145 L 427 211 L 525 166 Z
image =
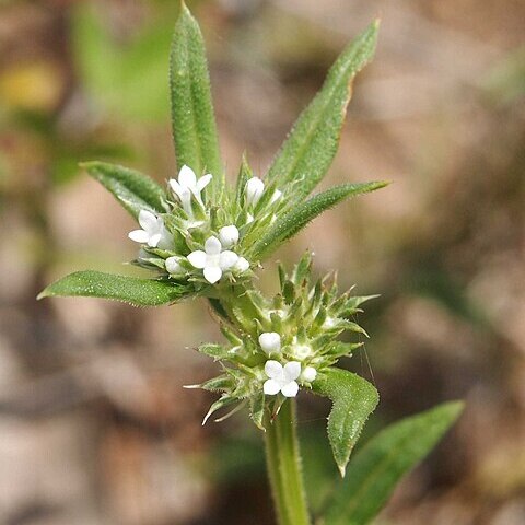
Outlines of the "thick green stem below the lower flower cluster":
M 266 459 L 279 525 L 308 525 L 295 432 L 295 400 L 288 399 L 267 425 Z

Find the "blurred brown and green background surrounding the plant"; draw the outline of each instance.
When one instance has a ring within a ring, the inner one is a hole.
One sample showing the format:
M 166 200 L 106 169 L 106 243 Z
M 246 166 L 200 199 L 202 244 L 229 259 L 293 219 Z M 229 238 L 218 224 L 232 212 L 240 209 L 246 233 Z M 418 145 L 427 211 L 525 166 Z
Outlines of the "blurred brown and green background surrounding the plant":
M 188 2 L 206 37 L 230 175 L 264 174 L 345 44 L 373 18 L 325 180 L 394 182 L 326 213 L 316 272 L 381 293 L 342 363 L 382 401 L 366 435 L 447 399 L 466 411 L 396 491 L 381 525 L 525 523 L 525 3 Z M 203 302 L 138 310 L 35 296 L 67 272 L 136 272 L 131 219 L 78 168 L 175 173 L 167 60 L 177 1 L 0 2 L 0 523 L 273 524 L 262 444 L 244 413 L 200 425 L 215 366 Z M 273 261 L 261 285 L 271 289 Z M 312 505 L 337 470 L 328 405 L 300 396 Z M 417 439 L 417 436 L 415 436 Z

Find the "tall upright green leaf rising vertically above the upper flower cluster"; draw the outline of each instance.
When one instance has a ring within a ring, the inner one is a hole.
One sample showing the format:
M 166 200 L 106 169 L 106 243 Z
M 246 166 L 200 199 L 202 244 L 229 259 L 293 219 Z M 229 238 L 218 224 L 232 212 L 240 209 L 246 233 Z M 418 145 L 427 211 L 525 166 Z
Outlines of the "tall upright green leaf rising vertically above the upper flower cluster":
M 178 168 L 184 164 L 197 176 L 213 175 L 211 192 L 224 185 L 205 44 L 197 21 L 182 7 L 170 56 L 172 125 Z

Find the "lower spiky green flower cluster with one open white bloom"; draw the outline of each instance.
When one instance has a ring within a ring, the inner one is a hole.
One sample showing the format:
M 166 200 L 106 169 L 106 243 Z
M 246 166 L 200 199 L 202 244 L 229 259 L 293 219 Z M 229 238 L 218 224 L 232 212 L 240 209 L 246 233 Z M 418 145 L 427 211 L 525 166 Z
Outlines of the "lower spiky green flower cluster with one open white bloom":
M 312 283 L 311 266 L 307 254 L 290 275 L 281 268 L 281 290 L 272 300 L 250 288 L 224 304 L 230 323 L 221 318 L 221 326 L 230 345 L 199 348 L 223 368 L 219 377 L 199 385 L 222 393 L 206 419 L 228 405 L 249 401 L 252 418 L 262 428 L 266 400 L 275 398 L 279 407 L 362 345 L 338 337 L 346 330 L 365 336 L 350 318 L 371 296 L 339 294 L 330 278 Z

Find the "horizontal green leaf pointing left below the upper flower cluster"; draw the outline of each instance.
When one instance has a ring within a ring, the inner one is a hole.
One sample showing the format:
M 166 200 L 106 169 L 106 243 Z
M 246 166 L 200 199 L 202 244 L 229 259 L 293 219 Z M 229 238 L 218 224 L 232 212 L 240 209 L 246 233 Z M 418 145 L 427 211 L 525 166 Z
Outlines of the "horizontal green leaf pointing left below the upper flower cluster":
M 75 271 L 49 284 L 37 299 L 52 296 L 102 298 L 133 306 L 175 303 L 191 294 L 188 288 L 170 281 L 115 276 L 101 271 Z

